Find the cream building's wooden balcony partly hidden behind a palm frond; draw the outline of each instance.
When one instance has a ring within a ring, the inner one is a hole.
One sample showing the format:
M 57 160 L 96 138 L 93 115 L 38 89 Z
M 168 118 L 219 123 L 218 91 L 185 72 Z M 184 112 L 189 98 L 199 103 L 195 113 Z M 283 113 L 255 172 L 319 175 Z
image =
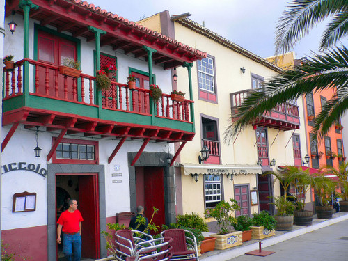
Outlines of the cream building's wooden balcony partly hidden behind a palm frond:
M 241 105 L 248 93 L 253 90 L 242 90 L 236 93 L 230 93 L 231 99 L 231 111 L 232 118 L 237 110 L 237 106 Z M 265 111 L 263 116 L 252 122 L 254 127 L 271 127 L 274 129 L 280 129 L 287 131 L 290 129 L 299 129 L 299 106 L 286 102 L 285 104 L 279 104 L 271 111 Z

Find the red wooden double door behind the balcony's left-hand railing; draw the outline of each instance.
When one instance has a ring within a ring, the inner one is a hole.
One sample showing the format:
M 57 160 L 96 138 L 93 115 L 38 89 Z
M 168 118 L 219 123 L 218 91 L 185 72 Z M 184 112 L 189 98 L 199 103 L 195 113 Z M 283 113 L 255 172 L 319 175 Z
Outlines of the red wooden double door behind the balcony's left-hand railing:
M 38 61 L 48 65 L 61 65 L 65 58 L 77 59 L 76 43 L 56 35 L 38 31 Z M 58 80 L 58 97 L 64 99 L 64 76 L 56 74 L 53 69 L 39 66 L 38 68 L 38 93 L 46 95 L 48 79 L 48 93 L 56 97 L 55 80 Z M 47 78 L 48 77 L 48 78 Z M 72 100 L 72 77 L 67 77 L 68 100 Z

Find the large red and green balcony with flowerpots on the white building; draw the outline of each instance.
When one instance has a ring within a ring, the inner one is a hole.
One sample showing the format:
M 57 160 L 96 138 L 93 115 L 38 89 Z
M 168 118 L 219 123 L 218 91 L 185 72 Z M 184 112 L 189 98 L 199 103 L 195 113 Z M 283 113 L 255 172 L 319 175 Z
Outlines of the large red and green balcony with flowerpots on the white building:
M 26 74 L 24 63 L 29 63 Z M 132 91 L 127 84 L 111 81 L 111 88 L 100 92 L 88 74 L 68 77 L 55 65 L 30 59 L 15 66 L 12 72 L 3 70 L 3 125 L 19 122 L 68 133 L 163 141 L 193 139 L 191 100 L 175 102 L 163 94 L 152 106 L 149 90 Z

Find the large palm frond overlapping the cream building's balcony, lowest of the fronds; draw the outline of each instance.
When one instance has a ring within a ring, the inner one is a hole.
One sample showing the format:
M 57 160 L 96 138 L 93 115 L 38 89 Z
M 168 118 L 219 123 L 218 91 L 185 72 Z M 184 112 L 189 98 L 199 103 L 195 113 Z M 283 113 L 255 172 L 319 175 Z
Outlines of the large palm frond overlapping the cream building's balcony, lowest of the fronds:
M 278 104 L 313 91 L 333 88 L 333 86 L 342 95 L 342 104 L 337 104 L 337 109 L 331 112 L 331 117 L 336 118 L 336 114 L 342 115 L 347 109 L 344 102 L 347 102 L 345 100 L 347 91 L 345 90 L 348 86 L 348 49 L 345 47 L 331 49 L 323 55 L 315 54 L 302 65 L 276 75 L 266 81 L 262 88 L 248 93 L 246 100 L 237 106 L 235 115 L 232 115 L 233 120 L 237 120 L 232 122 L 231 117 L 223 140 L 230 142 L 238 132 L 262 117 L 264 112 L 274 109 Z M 329 118 L 327 122 L 329 124 L 333 121 Z M 321 123 L 317 122 L 317 124 Z M 319 127 L 323 133 L 327 129 L 325 126 L 324 128 Z

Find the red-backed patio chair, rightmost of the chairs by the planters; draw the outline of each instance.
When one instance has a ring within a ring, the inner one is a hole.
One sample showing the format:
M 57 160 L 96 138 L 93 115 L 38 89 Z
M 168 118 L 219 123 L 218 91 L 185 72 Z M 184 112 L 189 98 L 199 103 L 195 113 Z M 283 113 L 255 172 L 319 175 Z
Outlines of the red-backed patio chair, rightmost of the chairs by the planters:
M 191 237 L 187 237 L 187 235 Z M 168 229 L 161 232 L 162 237 L 173 239 L 169 244 L 173 247 L 171 260 L 199 260 L 196 237 L 192 232 L 184 229 Z

